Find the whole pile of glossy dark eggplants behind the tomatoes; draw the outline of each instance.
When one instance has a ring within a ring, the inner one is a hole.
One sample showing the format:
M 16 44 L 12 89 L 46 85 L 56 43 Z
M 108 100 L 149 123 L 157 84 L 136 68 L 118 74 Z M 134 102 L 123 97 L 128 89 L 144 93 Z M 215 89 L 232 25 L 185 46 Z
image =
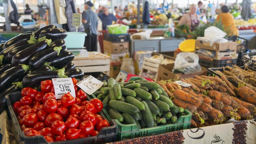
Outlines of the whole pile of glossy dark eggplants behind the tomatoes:
M 75 56 L 66 48 L 66 36 L 64 29 L 47 25 L 0 44 L 0 105 L 5 104 L 5 95 L 22 87 L 39 87 L 41 81 L 84 79 L 84 72 L 72 63 Z M 0 113 L 3 110 L 0 107 Z

